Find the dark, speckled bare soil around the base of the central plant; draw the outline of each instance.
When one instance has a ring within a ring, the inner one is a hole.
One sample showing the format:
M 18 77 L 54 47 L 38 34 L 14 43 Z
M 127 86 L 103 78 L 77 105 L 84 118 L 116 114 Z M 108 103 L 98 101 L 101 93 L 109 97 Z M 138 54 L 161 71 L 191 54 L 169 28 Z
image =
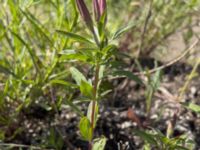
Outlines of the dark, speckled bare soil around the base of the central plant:
M 151 67 L 153 68 L 153 66 Z M 177 63 L 164 70 L 160 90 L 153 98 L 148 126 L 165 133 L 167 122 L 173 119 L 173 115 L 178 109 L 173 136 L 188 134 L 188 137 L 196 142 L 196 149 L 200 149 L 200 114 L 180 107 L 180 104 L 173 100 L 173 97 L 177 96 L 178 89 L 183 86 L 185 77 L 191 69 L 191 66 Z M 198 101 L 200 99 L 199 83 L 199 76 L 192 80 L 188 92 L 182 99 L 183 102 L 200 103 Z M 101 101 L 101 116 L 97 122 L 95 137 L 104 135 L 107 138 L 106 150 L 139 150 L 143 146 L 143 141 L 135 135 L 134 129 L 138 129 L 138 126 L 128 119 L 127 110 L 132 108 L 142 123 L 147 122 L 144 86 L 129 80 L 127 82 L 126 79 L 112 81 L 110 84 L 116 88 L 113 88 L 112 94 Z M 83 111 L 86 111 L 86 106 L 85 104 L 82 105 Z M 52 130 L 55 132 L 55 137 L 58 139 L 59 137 L 63 138 L 63 150 L 87 150 L 88 148 L 88 143 L 80 139 L 78 131 L 80 118 L 69 108 L 63 108 L 56 114 L 39 107 L 33 107 L 29 113 L 23 113 L 21 118 L 16 127 L 21 127 L 24 130 L 7 142 L 26 145 L 40 145 L 43 143 L 49 145 L 49 148 L 56 149 L 50 145 L 51 143 L 44 140 L 48 139 L 50 130 Z M 54 118 L 54 121 L 52 121 L 52 118 Z M 12 128 L 9 129 L 8 133 L 12 132 Z

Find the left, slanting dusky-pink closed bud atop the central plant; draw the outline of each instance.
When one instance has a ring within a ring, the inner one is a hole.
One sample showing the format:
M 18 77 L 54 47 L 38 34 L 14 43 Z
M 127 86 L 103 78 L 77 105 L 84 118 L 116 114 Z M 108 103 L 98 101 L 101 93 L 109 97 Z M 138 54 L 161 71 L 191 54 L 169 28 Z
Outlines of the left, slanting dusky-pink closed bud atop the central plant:
M 90 16 L 87 6 L 85 5 L 84 0 L 76 0 L 76 4 L 78 6 L 80 15 L 83 18 L 83 20 L 85 21 L 87 27 L 90 29 L 90 31 L 92 31 L 92 33 L 94 33 L 92 18 Z

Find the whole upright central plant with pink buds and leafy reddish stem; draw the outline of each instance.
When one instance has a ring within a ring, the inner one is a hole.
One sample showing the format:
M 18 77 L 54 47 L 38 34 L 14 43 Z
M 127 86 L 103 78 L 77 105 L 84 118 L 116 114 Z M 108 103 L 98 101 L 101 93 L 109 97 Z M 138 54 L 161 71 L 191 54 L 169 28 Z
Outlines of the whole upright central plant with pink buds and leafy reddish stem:
M 109 68 L 112 58 L 117 55 L 117 48 L 112 41 L 119 37 L 122 33 L 132 27 L 121 28 L 109 39 L 107 36 L 107 8 L 106 0 L 93 0 L 94 20 L 83 0 L 76 0 L 77 8 L 84 21 L 90 38 L 81 36 L 72 32 L 57 30 L 58 33 L 74 39 L 76 42 L 84 44 L 83 48 L 76 50 L 66 50 L 64 57 L 68 60 L 82 61 L 89 65 L 92 70 L 92 78 L 87 79 L 81 71 L 75 67 L 70 68 L 72 77 L 76 81 L 77 86 L 84 98 L 90 101 L 87 116 L 82 116 L 79 129 L 84 140 L 89 142 L 89 149 L 103 150 L 106 144 L 105 137 L 93 139 L 94 129 L 98 119 L 99 101 L 101 98 L 100 87 L 101 81 L 105 77 L 105 70 Z M 138 82 L 141 80 L 134 76 L 131 72 L 123 70 L 113 70 L 107 72 L 107 75 L 128 76 Z M 71 103 L 71 105 L 73 105 Z M 75 106 L 73 106 L 75 107 Z M 76 110 L 78 108 L 76 107 Z M 80 112 L 80 111 L 79 111 Z

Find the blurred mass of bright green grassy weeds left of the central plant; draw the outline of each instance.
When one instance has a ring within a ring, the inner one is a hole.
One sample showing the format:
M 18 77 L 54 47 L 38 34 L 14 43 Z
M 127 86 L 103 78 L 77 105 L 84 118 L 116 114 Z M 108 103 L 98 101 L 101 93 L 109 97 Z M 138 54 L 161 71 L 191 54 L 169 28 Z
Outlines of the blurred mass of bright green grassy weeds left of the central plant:
M 58 112 L 63 97 L 76 87 L 65 81 L 69 73 L 59 57 L 71 41 L 55 34 L 55 28 L 72 31 L 77 17 L 73 0 L 0 2 L 1 141 L 12 141 L 26 130 L 22 116 L 41 119 Z M 61 96 L 56 90 L 67 92 Z

